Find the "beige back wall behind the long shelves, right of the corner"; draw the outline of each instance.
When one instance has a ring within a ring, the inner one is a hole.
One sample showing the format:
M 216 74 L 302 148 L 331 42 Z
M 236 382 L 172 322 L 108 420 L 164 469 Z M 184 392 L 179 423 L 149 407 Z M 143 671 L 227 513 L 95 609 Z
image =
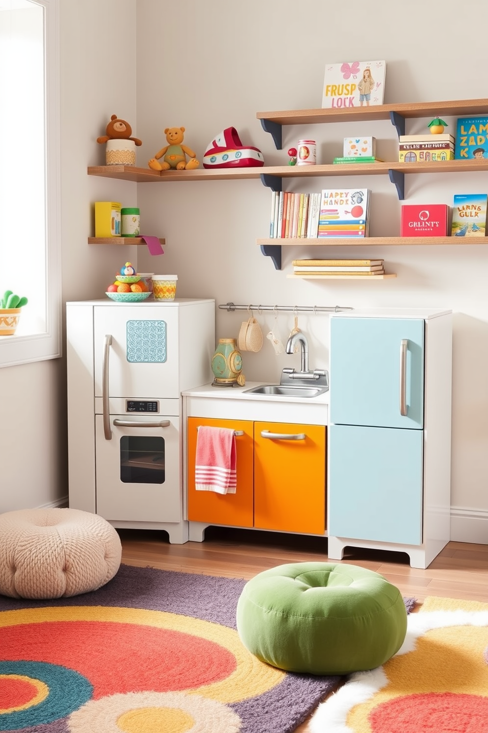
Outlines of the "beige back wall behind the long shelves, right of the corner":
M 308 135 L 317 140 L 319 162 L 331 162 L 342 155 L 342 138 L 357 129 L 353 123 L 285 127 L 283 150 L 277 151 L 255 117 L 258 111 L 320 107 L 326 62 L 386 59 L 386 103 L 488 96 L 484 43 L 457 28 L 458 0 L 442 7 L 424 0 L 408 6 L 380 0 L 138 0 L 137 8 L 141 164 L 165 144 L 163 130 L 173 125 L 187 128 L 187 143 L 200 156 L 220 130 L 234 126 L 244 144 L 263 151 L 267 164 L 286 164 L 288 147 Z M 453 24 L 449 32 L 446 22 Z M 476 27 L 487 23 L 488 6 L 478 3 Z M 444 119 L 455 133 L 456 120 Z M 429 121 L 412 120 L 407 132 L 426 132 Z M 377 138 L 380 158 L 394 160 L 390 122 L 361 123 L 361 133 Z M 334 178 L 334 184 L 350 179 Z M 381 176 L 361 178 L 361 184 L 372 190 L 371 235 L 399 235 L 394 186 Z M 286 188 L 320 191 L 325 185 L 325 179 L 310 178 Z M 488 191 L 488 175 L 411 175 L 405 186 L 407 202 L 451 204 L 455 193 Z M 138 195 L 144 229 L 167 237 L 164 269 L 178 273 L 180 295 L 209 295 L 218 303 L 451 308 L 453 537 L 488 541 L 486 246 L 361 248 L 386 259 L 397 279 L 295 281 L 286 278 L 291 260 L 316 250 L 283 248 L 280 272 L 260 254 L 255 242 L 267 236 L 271 194 L 259 181 L 148 183 Z M 344 247 L 341 254 L 355 257 L 358 251 Z M 153 268 L 147 254 L 140 263 Z M 219 311 L 217 334 L 236 336 L 241 320 L 242 314 Z M 269 330 L 273 317 L 260 322 Z M 291 325 L 292 318 L 279 317 L 282 338 Z M 326 366 L 328 318 L 300 317 L 299 325 L 309 336 L 312 367 Z M 260 353 L 244 354 L 244 372 L 249 379 L 274 380 L 298 359 L 274 356 L 265 341 Z

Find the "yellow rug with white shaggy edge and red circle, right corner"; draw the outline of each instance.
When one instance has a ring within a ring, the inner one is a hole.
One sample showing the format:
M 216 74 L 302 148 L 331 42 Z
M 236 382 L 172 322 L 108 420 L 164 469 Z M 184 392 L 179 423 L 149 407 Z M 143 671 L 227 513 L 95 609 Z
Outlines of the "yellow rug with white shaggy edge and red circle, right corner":
M 488 594 L 488 589 L 487 589 Z M 488 733 L 488 604 L 429 597 L 399 652 L 321 704 L 312 733 Z

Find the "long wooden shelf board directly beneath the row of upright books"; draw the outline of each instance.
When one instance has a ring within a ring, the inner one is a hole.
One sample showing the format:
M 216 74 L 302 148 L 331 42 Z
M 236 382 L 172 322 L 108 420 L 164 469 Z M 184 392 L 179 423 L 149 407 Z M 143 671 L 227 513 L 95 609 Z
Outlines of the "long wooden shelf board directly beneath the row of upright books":
M 291 237 L 277 237 L 276 239 L 258 239 L 256 244 L 275 246 L 320 246 L 320 247 L 344 247 L 344 246 L 382 246 L 397 247 L 399 245 L 442 245 L 442 244 L 488 244 L 488 237 L 345 237 L 323 239 L 292 239 Z

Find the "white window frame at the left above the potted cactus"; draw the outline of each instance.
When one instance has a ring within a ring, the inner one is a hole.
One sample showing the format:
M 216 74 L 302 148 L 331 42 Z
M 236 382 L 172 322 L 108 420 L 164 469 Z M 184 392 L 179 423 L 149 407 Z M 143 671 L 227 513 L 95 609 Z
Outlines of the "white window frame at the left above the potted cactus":
M 61 104 L 59 0 L 30 0 L 44 9 L 46 329 L 0 338 L 0 367 L 61 356 Z

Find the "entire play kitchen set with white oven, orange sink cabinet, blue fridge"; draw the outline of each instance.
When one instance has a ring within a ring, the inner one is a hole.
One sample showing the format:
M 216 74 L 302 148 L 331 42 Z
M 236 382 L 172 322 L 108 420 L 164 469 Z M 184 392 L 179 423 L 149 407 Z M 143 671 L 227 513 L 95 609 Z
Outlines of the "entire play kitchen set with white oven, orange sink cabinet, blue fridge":
M 329 323 L 330 389 L 304 358 L 279 385 L 225 388 L 214 301 L 67 303 L 70 506 L 170 542 L 267 529 L 329 537 L 329 559 L 380 548 L 427 567 L 449 539 L 451 312 Z M 196 490 L 200 426 L 235 431 L 236 493 Z

